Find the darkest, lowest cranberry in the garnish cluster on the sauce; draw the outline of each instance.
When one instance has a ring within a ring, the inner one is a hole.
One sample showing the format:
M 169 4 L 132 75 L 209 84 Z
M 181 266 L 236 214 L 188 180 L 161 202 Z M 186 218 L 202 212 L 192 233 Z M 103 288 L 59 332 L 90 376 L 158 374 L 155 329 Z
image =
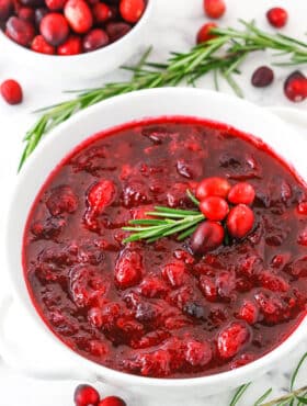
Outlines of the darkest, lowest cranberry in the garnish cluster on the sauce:
M 191 237 L 190 247 L 193 253 L 203 255 L 223 244 L 224 228 L 215 222 L 203 222 Z

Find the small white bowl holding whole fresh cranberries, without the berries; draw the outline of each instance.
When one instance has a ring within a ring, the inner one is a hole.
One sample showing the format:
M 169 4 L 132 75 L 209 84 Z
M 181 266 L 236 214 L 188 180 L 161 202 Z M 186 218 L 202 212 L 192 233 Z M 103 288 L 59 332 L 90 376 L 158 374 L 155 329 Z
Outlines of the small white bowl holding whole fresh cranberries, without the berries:
M 35 53 L 10 40 L 0 30 L 1 55 L 11 58 L 33 75 L 65 84 L 78 84 L 78 80 L 96 79 L 118 68 L 132 55 L 147 44 L 148 29 L 154 18 L 156 0 L 149 0 L 138 23 L 121 40 L 93 52 L 71 55 L 45 55 Z

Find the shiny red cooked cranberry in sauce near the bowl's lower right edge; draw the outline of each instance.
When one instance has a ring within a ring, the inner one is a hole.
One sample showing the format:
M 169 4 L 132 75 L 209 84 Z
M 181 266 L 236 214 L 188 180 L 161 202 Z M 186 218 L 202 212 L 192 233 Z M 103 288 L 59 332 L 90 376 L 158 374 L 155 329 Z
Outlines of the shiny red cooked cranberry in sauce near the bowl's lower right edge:
M 219 331 L 217 337 L 217 350 L 219 357 L 229 359 L 242 350 L 249 341 L 251 332 L 243 323 L 234 322 Z

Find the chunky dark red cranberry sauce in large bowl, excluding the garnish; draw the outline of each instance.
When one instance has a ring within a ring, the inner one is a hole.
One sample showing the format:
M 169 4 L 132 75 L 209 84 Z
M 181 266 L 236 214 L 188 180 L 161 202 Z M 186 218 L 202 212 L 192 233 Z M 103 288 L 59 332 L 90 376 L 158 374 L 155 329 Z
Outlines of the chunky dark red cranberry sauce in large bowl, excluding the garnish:
M 207 177 L 255 190 L 252 232 L 203 257 L 189 239 L 124 245 L 154 205 L 193 208 Z M 307 303 L 307 191 L 262 144 L 193 119 L 91 138 L 42 188 L 24 234 L 26 283 L 49 328 L 81 356 L 144 376 L 238 368 L 283 342 Z

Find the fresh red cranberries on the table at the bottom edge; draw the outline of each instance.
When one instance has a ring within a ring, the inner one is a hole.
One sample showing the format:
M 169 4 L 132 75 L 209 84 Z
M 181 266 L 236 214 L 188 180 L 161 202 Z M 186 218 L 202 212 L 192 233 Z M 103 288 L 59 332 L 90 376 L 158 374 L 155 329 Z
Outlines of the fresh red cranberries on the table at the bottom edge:
M 126 406 L 126 403 L 117 396 L 100 398 L 98 391 L 90 385 L 79 385 L 73 396 L 76 406 Z

